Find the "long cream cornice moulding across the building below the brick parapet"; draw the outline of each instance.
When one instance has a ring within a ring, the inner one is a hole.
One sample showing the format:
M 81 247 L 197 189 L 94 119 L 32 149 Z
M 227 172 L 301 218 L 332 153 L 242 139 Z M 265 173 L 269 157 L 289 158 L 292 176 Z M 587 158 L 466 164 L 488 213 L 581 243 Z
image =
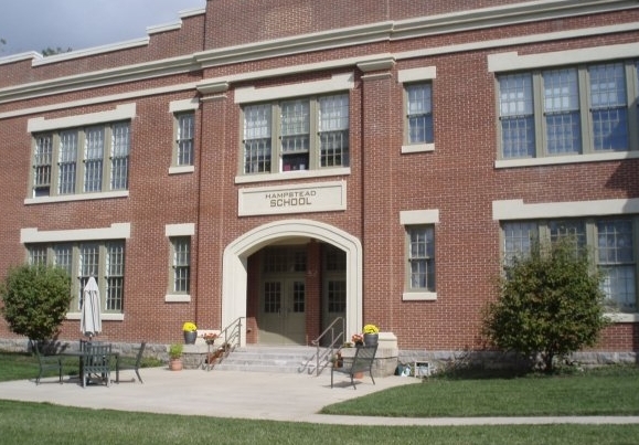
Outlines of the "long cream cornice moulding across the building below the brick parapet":
M 636 0 L 537 0 L 504 7 L 483 8 L 403 21 L 377 22 L 361 27 L 297 35 L 287 39 L 209 50 L 179 57 L 10 86 L 0 88 L 0 103 L 148 80 L 185 72 L 196 72 L 209 67 L 300 54 L 311 51 L 470 31 L 493 27 L 496 24 L 518 24 L 537 20 L 586 15 L 637 8 L 639 8 L 639 2 Z M 202 11 L 198 10 L 193 13 L 195 12 L 201 13 Z M 138 44 L 139 41 L 131 41 L 128 43 Z M 109 51 L 113 51 L 113 45 L 108 47 Z M 30 55 L 32 54 L 30 53 Z M 46 59 L 49 57 L 45 57 L 44 60 Z M 42 61 L 43 60 L 39 60 L 38 63 L 42 64 Z M 2 63 L 4 63 L 4 60 L 0 59 L 0 66 Z

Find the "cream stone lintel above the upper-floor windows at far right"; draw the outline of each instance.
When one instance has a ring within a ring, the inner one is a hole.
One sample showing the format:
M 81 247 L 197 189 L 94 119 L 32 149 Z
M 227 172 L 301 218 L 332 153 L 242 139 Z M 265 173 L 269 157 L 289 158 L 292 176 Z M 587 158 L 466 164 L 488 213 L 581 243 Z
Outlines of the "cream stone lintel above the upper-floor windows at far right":
M 515 51 L 489 54 L 488 72 L 532 70 L 544 66 L 575 65 L 611 59 L 628 59 L 639 55 L 639 44 L 624 43 L 578 50 L 555 51 L 541 54 L 519 55 Z

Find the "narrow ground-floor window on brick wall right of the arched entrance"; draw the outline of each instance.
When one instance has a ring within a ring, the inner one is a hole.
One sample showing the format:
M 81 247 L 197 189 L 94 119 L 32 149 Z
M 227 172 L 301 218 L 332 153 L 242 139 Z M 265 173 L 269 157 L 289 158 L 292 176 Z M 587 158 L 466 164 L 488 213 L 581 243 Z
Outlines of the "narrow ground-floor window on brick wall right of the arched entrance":
M 408 289 L 435 292 L 435 231 L 432 225 L 408 226 Z

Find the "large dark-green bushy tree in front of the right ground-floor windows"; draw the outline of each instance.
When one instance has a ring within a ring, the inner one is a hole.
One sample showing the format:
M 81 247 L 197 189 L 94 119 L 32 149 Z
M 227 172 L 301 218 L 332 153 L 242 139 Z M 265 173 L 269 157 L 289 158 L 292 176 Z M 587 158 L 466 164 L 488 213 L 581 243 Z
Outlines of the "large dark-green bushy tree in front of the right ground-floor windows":
M 499 349 L 541 361 L 553 372 L 555 358 L 594 346 L 609 322 L 601 279 L 575 240 L 536 243 L 500 278 L 500 296 L 487 307 L 483 332 Z

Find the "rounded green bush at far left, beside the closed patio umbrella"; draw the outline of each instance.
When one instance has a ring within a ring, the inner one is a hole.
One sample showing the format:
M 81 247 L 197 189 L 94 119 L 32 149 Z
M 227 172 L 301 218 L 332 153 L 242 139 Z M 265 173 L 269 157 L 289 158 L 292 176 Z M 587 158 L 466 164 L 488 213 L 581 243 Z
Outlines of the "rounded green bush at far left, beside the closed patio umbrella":
M 31 340 L 51 339 L 71 303 L 71 278 L 56 267 L 22 265 L 9 271 L 0 284 L 0 311 L 10 329 Z

